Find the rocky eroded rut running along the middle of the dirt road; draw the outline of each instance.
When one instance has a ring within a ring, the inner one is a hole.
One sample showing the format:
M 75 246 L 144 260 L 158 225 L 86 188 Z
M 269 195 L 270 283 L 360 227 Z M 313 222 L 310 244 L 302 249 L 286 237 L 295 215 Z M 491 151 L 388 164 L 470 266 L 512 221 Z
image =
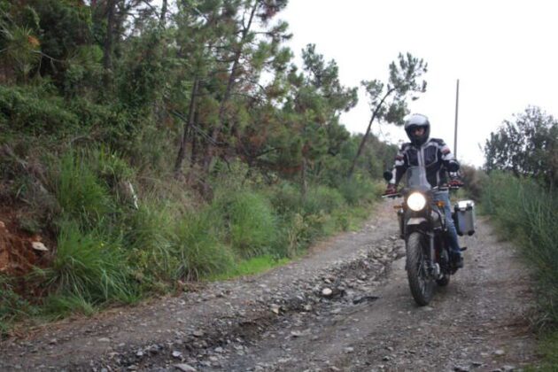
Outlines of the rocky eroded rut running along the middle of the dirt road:
M 172 367 L 173 361 L 179 360 L 198 368 L 223 367 L 215 355 L 244 355 L 248 345 L 257 344 L 267 332 L 283 328 L 293 323 L 293 319 L 375 301 L 378 298 L 375 289 L 387 274 L 391 261 L 399 257 L 398 248 L 400 245 L 395 244 L 393 237 L 376 242 L 350 260 L 338 260 L 318 270 L 310 281 L 293 280 L 286 295 L 259 300 L 266 309 L 250 319 L 229 326 L 217 321 L 205 331 L 170 345 L 138 346 L 128 353 L 112 354 L 110 359 L 96 364 L 99 368 L 112 365 L 152 370 Z M 299 336 L 297 331 L 291 333 L 291 337 Z

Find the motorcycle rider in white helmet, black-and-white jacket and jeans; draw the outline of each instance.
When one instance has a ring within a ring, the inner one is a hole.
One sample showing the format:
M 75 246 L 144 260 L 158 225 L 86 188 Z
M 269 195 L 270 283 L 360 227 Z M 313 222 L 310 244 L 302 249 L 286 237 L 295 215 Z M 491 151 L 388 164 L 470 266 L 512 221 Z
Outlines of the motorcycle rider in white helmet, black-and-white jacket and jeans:
M 459 170 L 459 163 L 453 159 L 449 147 L 438 138 L 430 138 L 430 121 L 422 114 L 415 113 L 405 120 L 405 131 L 411 140 L 410 143 L 403 143 L 395 157 L 395 165 L 391 172 L 391 181 L 385 190 L 384 195 L 397 193 L 397 186 L 407 171 L 408 167 L 423 167 L 426 173 L 426 180 L 432 188 L 440 186 L 446 179 L 446 172 L 454 173 Z M 462 183 L 456 178 L 449 182 L 450 186 L 461 186 Z M 436 203 L 444 203 L 444 213 L 446 215 L 446 228 L 448 241 L 451 248 L 451 256 L 454 267 L 463 267 L 463 257 L 457 238 L 457 231 L 452 219 L 449 195 L 447 190 L 435 190 L 434 200 Z

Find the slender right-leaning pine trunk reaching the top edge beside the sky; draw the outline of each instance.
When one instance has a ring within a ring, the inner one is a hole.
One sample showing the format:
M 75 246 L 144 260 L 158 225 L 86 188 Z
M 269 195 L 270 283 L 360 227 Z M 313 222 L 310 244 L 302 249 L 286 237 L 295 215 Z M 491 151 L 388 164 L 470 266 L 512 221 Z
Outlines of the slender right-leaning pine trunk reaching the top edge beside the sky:
M 252 20 L 254 19 L 254 16 L 256 14 L 259 5 L 260 5 L 260 0 L 256 0 L 253 4 L 252 12 L 250 13 L 250 19 L 248 19 L 248 25 L 243 30 L 240 43 L 238 44 L 238 49 L 236 50 L 235 53 L 233 66 L 229 75 L 229 81 L 227 81 L 227 89 L 225 89 L 225 94 L 221 100 L 221 104 L 219 105 L 219 120 L 215 128 L 213 128 L 211 141 L 210 143 L 207 143 L 207 147 L 205 149 L 205 155 L 203 161 L 203 170 L 205 174 L 209 172 L 209 167 L 211 166 L 211 162 L 213 160 L 213 156 L 214 156 L 213 150 L 215 148 L 215 144 L 217 143 L 217 140 L 219 139 L 219 135 L 221 134 L 221 128 L 223 128 L 224 125 L 225 113 L 227 111 L 227 104 L 229 103 L 232 88 L 235 83 L 236 70 L 238 69 L 238 64 L 240 63 L 240 57 L 242 56 L 244 43 L 246 43 L 246 38 L 248 36 L 248 33 L 250 32 L 250 27 L 252 27 Z

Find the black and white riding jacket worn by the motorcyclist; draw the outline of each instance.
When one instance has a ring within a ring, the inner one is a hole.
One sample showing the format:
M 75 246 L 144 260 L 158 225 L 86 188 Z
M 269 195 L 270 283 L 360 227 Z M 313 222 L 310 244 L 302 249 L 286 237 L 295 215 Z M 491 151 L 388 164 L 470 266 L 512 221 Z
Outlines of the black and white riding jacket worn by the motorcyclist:
M 401 145 L 395 157 L 390 183 L 399 184 L 408 167 L 424 167 L 426 180 L 431 187 L 436 187 L 447 182 L 447 172 L 457 171 L 459 163 L 453 159 L 453 154 L 444 140 L 429 138 L 422 145 L 413 143 Z

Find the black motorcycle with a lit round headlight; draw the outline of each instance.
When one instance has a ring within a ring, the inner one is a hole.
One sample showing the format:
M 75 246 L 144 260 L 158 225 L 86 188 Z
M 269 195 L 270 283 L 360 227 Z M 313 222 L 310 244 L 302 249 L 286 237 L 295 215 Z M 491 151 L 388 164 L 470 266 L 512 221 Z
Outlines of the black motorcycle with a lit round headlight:
M 395 208 L 407 251 L 407 279 L 415 302 L 425 306 L 430 303 L 436 285 L 446 286 L 457 271 L 446 238 L 444 202 L 433 199 L 434 192 L 449 188 L 431 188 L 423 167 L 409 167 L 406 174 L 407 187 L 383 198 L 403 198 L 403 203 Z M 385 172 L 384 179 L 389 182 L 391 172 Z

